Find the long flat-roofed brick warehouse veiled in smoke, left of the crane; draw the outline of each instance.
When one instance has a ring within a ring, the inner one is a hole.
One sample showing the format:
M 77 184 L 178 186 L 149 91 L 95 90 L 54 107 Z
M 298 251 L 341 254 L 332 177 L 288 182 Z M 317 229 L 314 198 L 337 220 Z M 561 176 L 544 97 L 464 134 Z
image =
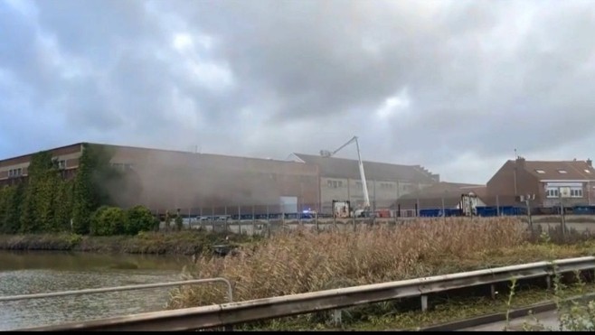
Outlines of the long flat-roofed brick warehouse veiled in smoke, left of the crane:
M 270 213 L 316 209 L 315 165 L 232 157 L 219 154 L 100 145 L 110 163 L 126 172 L 125 181 L 110 186 L 118 205 L 142 204 L 154 212 L 181 209 L 184 214 Z M 83 144 L 49 150 L 66 178 L 79 167 Z M 0 185 L 27 176 L 33 154 L 0 161 Z

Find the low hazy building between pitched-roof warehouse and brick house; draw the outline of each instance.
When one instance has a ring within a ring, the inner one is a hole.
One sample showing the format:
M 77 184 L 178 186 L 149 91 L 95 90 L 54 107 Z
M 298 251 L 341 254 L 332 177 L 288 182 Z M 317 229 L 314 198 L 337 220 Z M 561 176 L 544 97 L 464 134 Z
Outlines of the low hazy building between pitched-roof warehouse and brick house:
M 420 191 L 402 195 L 392 209 L 460 209 L 461 196 L 477 196 L 477 206 L 486 206 L 486 186 L 458 182 L 440 181 Z

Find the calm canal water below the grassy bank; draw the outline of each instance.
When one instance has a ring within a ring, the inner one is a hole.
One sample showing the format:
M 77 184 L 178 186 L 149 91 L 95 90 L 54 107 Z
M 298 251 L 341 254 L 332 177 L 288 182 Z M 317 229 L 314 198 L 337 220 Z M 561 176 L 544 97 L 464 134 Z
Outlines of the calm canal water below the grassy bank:
M 187 256 L 0 251 L 0 296 L 182 280 Z M 161 311 L 173 288 L 0 302 L 0 330 Z

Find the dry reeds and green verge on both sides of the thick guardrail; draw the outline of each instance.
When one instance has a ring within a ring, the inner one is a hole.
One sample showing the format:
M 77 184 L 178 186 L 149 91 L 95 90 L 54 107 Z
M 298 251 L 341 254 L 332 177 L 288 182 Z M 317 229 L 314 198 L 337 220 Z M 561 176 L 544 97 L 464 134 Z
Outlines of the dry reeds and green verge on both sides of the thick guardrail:
M 237 256 L 200 257 L 187 268 L 189 278 L 225 277 L 234 284 L 236 301 L 306 293 L 360 284 L 444 275 L 487 267 L 556 258 L 592 256 L 595 240 L 574 230 L 537 229 L 513 218 L 420 219 L 405 224 L 360 227 L 356 231 L 317 233 L 301 228 L 279 233 L 258 245 L 240 247 Z M 594 290 L 591 285 L 585 289 Z M 450 296 L 432 302 L 420 313 L 419 300 L 382 302 L 347 309 L 342 328 L 357 330 L 411 329 L 454 321 L 486 312 L 504 312 L 504 288 L 496 301 L 486 294 Z M 567 294 L 574 293 L 569 291 Z M 541 302 L 552 293 L 524 287 L 511 306 Z M 490 301 L 486 304 L 486 299 Z M 183 287 L 172 293 L 171 309 L 221 303 L 224 289 Z M 518 304 L 516 303 L 518 302 Z M 461 306 L 467 306 L 462 308 Z M 335 329 L 330 312 L 244 325 L 246 330 Z

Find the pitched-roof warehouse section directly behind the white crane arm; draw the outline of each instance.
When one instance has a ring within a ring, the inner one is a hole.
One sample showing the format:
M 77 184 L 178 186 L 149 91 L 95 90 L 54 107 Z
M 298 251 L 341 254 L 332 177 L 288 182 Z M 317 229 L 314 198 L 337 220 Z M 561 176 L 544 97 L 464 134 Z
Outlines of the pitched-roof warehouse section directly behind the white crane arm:
M 364 204 L 364 191 L 356 160 L 312 154 L 290 154 L 288 160 L 315 165 L 320 173 L 320 210 L 332 212 L 333 200 L 348 200 L 352 207 Z M 439 181 L 420 165 L 400 165 L 364 161 L 364 173 L 370 205 L 388 209 L 402 195 L 431 186 Z

